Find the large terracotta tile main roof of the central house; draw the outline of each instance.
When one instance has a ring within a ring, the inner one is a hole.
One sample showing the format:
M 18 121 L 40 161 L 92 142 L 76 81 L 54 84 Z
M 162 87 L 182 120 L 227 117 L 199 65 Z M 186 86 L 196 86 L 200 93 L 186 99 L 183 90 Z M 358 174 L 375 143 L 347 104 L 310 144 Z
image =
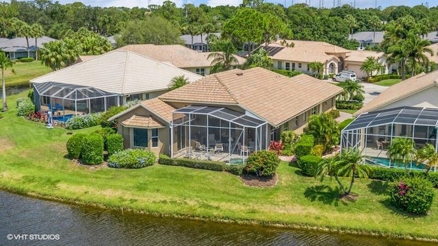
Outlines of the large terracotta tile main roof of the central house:
M 341 92 L 339 86 L 308 75 L 289 78 L 257 67 L 215 73 L 159 99 L 237 104 L 277 126 Z

